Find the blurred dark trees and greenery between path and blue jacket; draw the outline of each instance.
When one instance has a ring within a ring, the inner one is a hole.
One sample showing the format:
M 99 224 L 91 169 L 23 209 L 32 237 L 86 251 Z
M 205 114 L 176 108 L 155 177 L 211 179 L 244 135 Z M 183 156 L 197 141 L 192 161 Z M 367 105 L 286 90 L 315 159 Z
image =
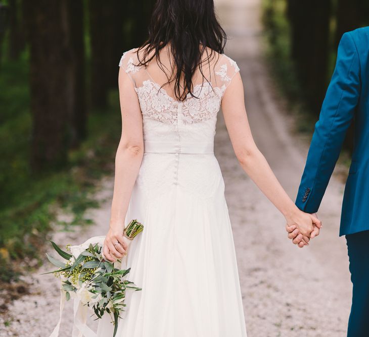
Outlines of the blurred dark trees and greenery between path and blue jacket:
M 369 2 L 263 0 L 263 24 L 269 63 L 289 102 L 304 113 L 298 131 L 310 131 L 334 70 L 342 34 L 369 25 Z M 352 131 L 345 142 L 349 153 Z

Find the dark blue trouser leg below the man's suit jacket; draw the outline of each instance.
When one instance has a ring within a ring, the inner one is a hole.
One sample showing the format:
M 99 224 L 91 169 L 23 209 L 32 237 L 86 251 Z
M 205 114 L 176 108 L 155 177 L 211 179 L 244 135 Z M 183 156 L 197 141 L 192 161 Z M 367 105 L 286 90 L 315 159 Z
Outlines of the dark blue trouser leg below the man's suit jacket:
M 346 235 L 352 306 L 347 337 L 369 336 L 369 231 Z

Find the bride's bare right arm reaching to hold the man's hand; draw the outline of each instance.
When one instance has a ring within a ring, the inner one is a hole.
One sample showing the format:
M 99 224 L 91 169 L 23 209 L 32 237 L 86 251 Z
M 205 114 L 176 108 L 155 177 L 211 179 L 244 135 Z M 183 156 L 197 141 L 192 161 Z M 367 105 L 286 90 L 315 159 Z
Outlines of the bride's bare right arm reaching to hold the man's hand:
M 297 208 L 257 148 L 247 119 L 244 87 L 240 73 L 237 73 L 228 85 L 221 107 L 229 138 L 243 170 L 274 206 L 281 211 L 289 226 L 296 225 L 302 235 L 310 237 L 313 224 L 320 227 L 320 221 Z

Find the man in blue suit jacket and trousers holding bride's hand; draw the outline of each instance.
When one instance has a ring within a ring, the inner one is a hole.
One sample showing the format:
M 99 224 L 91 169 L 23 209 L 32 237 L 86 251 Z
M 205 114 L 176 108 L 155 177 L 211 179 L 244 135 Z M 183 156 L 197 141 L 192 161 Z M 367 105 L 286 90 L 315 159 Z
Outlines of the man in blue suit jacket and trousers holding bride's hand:
M 345 235 L 353 284 L 348 337 L 369 336 L 369 27 L 345 33 L 315 125 L 296 205 L 317 212 L 353 121 L 354 151 L 340 236 Z M 289 232 L 293 232 L 288 228 Z M 294 239 L 292 233 L 290 239 Z M 296 243 L 294 241 L 294 243 Z

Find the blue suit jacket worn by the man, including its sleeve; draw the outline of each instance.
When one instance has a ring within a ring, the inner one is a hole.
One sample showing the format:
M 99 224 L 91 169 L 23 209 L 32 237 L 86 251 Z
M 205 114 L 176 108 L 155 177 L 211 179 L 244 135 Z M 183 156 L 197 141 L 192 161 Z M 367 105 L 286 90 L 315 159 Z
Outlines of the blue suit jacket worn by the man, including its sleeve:
M 296 205 L 318 210 L 347 128 L 354 152 L 342 205 L 340 236 L 369 230 L 369 27 L 342 36 L 337 63 L 315 125 Z

